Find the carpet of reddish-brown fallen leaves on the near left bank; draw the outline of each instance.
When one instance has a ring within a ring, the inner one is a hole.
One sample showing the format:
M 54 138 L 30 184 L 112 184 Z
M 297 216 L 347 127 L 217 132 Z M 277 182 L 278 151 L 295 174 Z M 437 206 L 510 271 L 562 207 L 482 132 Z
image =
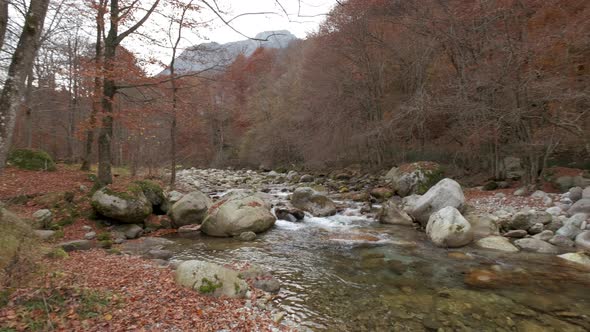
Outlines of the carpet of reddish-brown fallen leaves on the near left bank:
M 182 288 L 170 268 L 139 257 L 91 250 L 48 264 L 54 271 L 45 275 L 46 288 L 11 294 L 0 309 L 0 329 L 269 331 L 275 326 L 268 313 L 246 309 L 243 300 Z

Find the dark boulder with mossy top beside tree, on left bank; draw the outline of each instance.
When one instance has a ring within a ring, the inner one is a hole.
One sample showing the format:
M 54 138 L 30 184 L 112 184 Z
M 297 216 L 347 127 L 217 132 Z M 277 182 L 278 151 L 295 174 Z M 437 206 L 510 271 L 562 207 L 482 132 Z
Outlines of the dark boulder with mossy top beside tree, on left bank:
M 152 204 L 134 186 L 127 192 L 104 187 L 92 195 L 91 203 L 96 213 L 123 223 L 142 223 L 152 213 Z

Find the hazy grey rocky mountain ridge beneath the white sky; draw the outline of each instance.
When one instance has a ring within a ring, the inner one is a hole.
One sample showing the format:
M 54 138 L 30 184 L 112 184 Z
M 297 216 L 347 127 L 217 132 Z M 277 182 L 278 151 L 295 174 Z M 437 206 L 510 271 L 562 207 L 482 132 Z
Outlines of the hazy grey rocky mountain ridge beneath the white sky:
M 223 70 L 240 54 L 250 56 L 258 47 L 285 48 L 297 37 L 287 30 L 278 30 L 261 32 L 255 39 L 258 40 L 246 39 L 226 44 L 212 42 L 187 48 L 176 58 L 176 73 Z M 169 73 L 170 71 L 166 69 L 160 75 Z

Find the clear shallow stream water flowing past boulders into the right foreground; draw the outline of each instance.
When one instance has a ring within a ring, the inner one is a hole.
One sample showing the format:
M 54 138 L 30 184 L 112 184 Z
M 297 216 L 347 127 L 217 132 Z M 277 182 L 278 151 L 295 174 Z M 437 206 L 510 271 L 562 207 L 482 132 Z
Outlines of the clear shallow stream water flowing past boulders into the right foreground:
M 436 248 L 345 203 L 333 217 L 277 221 L 254 242 L 197 235 L 170 249 L 179 260 L 271 269 L 276 306 L 312 330 L 590 330 L 589 270 L 552 255 Z

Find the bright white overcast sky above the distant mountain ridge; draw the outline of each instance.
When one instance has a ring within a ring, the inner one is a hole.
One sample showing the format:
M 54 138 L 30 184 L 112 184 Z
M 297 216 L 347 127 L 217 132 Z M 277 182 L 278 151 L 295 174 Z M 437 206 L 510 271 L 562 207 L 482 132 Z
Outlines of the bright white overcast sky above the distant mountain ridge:
M 257 33 L 269 30 L 289 30 L 298 38 L 304 39 L 309 33 L 317 31 L 320 23 L 325 20 L 327 13 L 336 4 L 336 0 L 216 0 L 219 8 L 225 12 L 222 14 L 229 21 L 235 16 L 247 13 L 262 13 L 262 15 L 243 15 L 231 21 L 231 26 L 236 32 L 224 24 L 221 19 L 208 8 L 203 8 L 199 20 L 210 21 L 209 26 L 200 28 L 197 34 L 189 31 L 183 32 L 183 40 L 179 53 L 184 48 L 206 42 L 218 42 L 220 44 L 244 40 L 246 35 L 253 38 Z M 213 0 L 208 1 L 213 5 Z M 282 5 L 283 8 L 281 8 Z M 285 14 L 285 12 L 288 14 Z M 167 26 L 166 19 L 151 17 L 147 26 L 153 25 L 161 29 Z M 151 30 L 151 29 L 150 29 Z M 154 31 L 154 30 L 152 30 Z M 242 33 L 243 35 L 241 35 Z M 165 40 L 163 40 L 165 41 Z M 140 55 L 140 57 L 155 58 L 164 63 L 170 61 L 171 49 L 157 46 L 146 47 L 145 43 L 129 38 L 123 45 Z M 147 65 L 149 73 L 157 73 L 161 66 Z

